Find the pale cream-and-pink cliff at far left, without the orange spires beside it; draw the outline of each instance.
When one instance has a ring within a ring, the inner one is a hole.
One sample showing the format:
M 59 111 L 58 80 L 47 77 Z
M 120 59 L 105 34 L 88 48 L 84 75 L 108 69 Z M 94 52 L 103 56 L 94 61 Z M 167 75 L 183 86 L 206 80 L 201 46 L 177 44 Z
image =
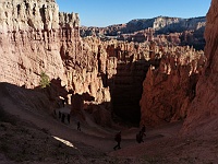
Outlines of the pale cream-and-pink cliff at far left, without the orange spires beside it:
M 45 0 L 5 0 L 0 9 L 0 81 L 34 87 L 43 71 L 63 78 L 66 51 L 75 58 L 82 49 L 77 14 L 59 13 Z

